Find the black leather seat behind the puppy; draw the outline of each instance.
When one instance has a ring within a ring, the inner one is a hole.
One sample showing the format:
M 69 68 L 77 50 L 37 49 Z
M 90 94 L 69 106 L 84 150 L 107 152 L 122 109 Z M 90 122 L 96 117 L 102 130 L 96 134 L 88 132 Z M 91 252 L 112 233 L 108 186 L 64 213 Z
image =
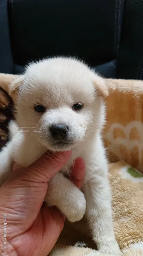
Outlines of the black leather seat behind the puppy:
M 142 0 L 0 0 L 0 72 L 55 55 L 105 77 L 142 79 Z

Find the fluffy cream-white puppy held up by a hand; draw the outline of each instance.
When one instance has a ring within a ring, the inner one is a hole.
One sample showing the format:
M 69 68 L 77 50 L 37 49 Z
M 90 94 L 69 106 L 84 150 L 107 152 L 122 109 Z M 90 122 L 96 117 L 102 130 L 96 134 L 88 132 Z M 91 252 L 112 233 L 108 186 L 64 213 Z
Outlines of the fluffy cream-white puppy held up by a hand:
M 13 161 L 28 166 L 47 149 L 72 149 L 68 164 L 49 183 L 45 200 L 71 222 L 80 220 L 86 212 L 99 251 L 120 255 L 101 140 L 103 98 L 108 94 L 105 80 L 78 60 L 51 58 L 30 64 L 12 83 L 10 94 L 15 98 L 20 129 L 0 154 L 1 184 L 11 172 Z M 70 174 L 78 156 L 86 165 L 84 193 L 63 175 Z

